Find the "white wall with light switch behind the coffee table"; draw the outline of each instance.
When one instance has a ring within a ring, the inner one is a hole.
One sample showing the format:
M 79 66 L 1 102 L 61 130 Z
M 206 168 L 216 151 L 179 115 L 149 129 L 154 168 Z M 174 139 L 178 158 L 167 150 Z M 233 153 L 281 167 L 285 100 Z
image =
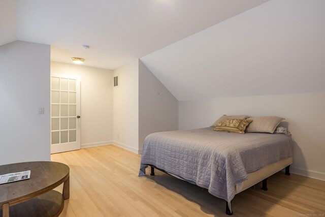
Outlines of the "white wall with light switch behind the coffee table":
M 49 160 L 50 46 L 0 46 L 0 165 Z

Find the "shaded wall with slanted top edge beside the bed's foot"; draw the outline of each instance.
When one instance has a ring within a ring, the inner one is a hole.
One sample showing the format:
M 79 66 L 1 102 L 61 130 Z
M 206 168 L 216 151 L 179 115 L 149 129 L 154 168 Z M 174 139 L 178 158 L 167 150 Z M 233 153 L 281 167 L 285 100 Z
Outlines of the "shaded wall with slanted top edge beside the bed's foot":
M 139 149 L 151 133 L 178 129 L 178 101 L 139 60 Z

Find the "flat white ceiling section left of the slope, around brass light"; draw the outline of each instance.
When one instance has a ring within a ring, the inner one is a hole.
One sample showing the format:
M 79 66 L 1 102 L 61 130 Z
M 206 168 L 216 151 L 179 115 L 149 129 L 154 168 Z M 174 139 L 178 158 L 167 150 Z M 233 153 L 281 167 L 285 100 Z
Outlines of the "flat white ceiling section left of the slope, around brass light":
M 0 45 L 17 39 L 49 44 L 53 61 L 71 63 L 77 56 L 85 66 L 115 69 L 265 2 L 4 0 Z M 10 12 L 14 5 L 17 13 Z

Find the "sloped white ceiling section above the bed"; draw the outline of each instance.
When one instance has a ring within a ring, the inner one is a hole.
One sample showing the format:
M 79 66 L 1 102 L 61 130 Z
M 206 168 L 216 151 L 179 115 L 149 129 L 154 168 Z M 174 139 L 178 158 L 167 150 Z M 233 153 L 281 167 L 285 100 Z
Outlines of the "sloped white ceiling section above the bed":
M 140 59 L 179 101 L 325 91 L 324 10 L 270 1 Z

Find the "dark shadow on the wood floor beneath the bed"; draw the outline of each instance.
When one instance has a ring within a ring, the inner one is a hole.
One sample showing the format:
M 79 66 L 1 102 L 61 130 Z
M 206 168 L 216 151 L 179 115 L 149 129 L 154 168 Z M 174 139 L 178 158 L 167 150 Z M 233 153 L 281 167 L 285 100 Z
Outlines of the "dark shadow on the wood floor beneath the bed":
M 186 200 L 199 204 L 203 212 L 214 216 L 229 216 L 225 214 L 225 201 L 214 197 L 206 189 L 158 170 L 155 170 L 155 176 L 150 176 L 148 175 L 150 174 L 149 170 L 150 167 L 146 171 L 148 179 L 152 179 L 166 189 L 176 192 Z M 294 178 L 293 176 L 297 175 L 287 176 L 283 172 L 278 172 L 269 177 L 268 191 L 263 191 L 261 189 L 262 182 L 259 182 L 254 187 L 237 194 L 232 201 L 233 216 L 270 216 L 267 213 L 276 204 L 285 207 L 286 203 L 283 202 L 283 199 L 297 188 L 297 184 L 301 185 L 304 182 L 304 178 L 300 178 L 299 183 L 293 184 L 295 181 L 290 181 Z M 290 209 L 292 207 L 286 208 Z

